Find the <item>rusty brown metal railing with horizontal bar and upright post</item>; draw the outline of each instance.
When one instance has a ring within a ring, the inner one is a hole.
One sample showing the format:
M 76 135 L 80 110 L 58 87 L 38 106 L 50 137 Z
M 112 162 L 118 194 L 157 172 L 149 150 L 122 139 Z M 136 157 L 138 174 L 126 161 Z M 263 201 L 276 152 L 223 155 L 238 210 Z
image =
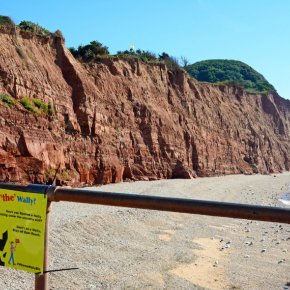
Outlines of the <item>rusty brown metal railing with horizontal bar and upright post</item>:
M 114 207 L 126 207 L 187 214 L 209 215 L 228 218 L 240 218 L 271 221 L 290 224 L 290 209 L 268 206 L 234 204 L 229 202 L 173 198 L 163 196 L 136 195 L 114 192 L 102 192 L 80 189 L 67 189 L 48 185 L 18 185 L 0 183 L 1 189 L 47 194 L 47 212 L 45 223 L 45 245 L 43 271 L 48 270 L 49 212 L 52 201 L 82 202 Z M 48 274 L 36 275 L 35 289 L 47 290 Z

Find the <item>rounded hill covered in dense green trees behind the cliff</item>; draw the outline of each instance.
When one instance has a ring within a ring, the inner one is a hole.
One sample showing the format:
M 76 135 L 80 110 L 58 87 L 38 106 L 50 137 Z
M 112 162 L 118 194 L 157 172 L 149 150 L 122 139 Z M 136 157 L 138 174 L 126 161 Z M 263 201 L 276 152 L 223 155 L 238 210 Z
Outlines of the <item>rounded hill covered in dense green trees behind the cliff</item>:
M 262 74 L 240 61 L 202 61 L 187 66 L 186 71 L 198 81 L 237 85 L 244 88 L 246 92 L 269 93 L 276 91 Z

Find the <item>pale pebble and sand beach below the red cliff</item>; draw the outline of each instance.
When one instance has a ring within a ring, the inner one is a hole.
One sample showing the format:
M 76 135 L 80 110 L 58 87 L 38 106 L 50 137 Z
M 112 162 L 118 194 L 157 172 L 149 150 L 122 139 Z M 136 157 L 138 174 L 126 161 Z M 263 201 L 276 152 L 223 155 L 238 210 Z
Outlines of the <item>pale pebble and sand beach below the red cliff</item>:
M 290 207 L 288 183 L 290 172 L 90 189 Z M 53 203 L 49 269 L 79 269 L 50 273 L 49 289 L 287 289 L 289 237 L 288 224 Z M 34 275 L 3 267 L 0 284 L 33 289 Z

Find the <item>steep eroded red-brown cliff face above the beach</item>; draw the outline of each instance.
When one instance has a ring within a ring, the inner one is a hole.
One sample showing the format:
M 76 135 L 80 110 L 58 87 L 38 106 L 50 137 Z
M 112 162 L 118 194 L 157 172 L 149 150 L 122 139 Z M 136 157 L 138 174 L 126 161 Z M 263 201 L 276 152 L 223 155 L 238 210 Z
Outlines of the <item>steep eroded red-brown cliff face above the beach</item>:
M 138 60 L 80 64 L 61 38 L 0 27 L 0 181 L 57 184 L 289 170 L 290 102 Z M 8 80 L 4 81 L 4 80 Z M 41 125 L 41 126 L 40 126 Z M 48 130 L 48 128 L 52 130 Z

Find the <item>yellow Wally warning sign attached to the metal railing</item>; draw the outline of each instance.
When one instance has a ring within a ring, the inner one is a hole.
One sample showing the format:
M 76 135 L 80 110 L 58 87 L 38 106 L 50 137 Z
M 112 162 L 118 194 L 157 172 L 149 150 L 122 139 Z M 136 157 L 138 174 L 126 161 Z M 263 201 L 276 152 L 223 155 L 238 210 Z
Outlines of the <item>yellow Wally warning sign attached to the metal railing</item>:
M 0 189 L 0 266 L 43 272 L 47 195 Z

